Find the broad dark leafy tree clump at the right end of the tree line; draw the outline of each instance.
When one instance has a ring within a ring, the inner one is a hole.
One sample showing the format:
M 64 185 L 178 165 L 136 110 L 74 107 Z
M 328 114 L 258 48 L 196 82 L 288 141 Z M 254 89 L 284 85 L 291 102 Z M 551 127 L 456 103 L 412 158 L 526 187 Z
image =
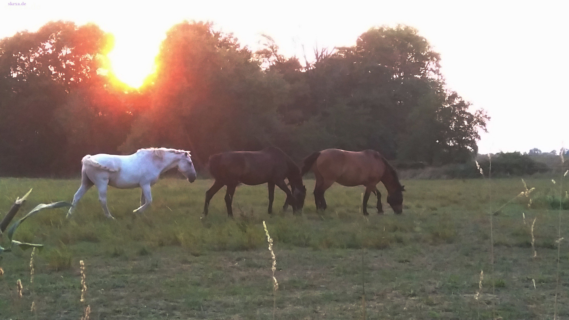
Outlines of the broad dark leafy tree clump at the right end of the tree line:
M 271 45 L 263 52 L 279 57 L 277 50 Z M 279 109 L 284 121 L 323 125 L 327 134 L 316 135 L 326 140 L 320 145 L 376 149 L 390 158 L 429 163 L 465 162 L 477 153 L 478 130 L 485 130 L 489 118 L 445 89 L 439 60 L 414 28 L 378 27 L 310 68 L 283 69 L 288 61 L 281 57 L 271 60 L 267 72 L 291 84 L 294 102 Z M 295 84 L 310 89 L 303 92 Z

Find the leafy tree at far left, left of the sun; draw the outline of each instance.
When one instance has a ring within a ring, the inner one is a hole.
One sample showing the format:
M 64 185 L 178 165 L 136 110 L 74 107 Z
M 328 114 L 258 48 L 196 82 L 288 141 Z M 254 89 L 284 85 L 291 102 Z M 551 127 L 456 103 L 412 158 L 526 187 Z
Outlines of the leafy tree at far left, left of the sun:
M 65 167 L 68 136 L 56 112 L 69 92 L 93 85 L 98 56 L 110 46 L 112 38 L 96 25 L 61 21 L 0 40 L 0 174 Z

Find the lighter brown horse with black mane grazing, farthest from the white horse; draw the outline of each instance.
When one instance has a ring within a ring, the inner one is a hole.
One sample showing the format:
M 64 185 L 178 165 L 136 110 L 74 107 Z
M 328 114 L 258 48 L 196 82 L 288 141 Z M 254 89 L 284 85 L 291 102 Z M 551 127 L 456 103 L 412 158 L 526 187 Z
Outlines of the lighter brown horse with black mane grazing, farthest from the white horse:
M 374 150 L 360 152 L 344 151 L 339 149 L 326 149 L 315 152 L 304 159 L 302 175 L 314 171 L 316 186 L 314 187 L 314 200 L 316 210 L 326 209 L 324 192 L 334 182 L 343 186 L 365 186 L 364 215 L 368 215 L 369 194 L 377 196 L 377 212 L 383 214 L 381 194 L 376 184 L 380 181 L 387 189 L 387 203 L 396 214 L 403 212 L 403 193 L 405 186 L 399 183 L 395 169 L 380 153 Z

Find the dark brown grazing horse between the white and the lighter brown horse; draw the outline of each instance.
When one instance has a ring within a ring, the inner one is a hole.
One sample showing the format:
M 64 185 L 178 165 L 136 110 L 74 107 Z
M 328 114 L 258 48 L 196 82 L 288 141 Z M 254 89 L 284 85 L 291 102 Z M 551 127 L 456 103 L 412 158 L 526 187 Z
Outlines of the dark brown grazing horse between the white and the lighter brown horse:
M 273 213 L 273 199 L 275 185 L 286 193 L 287 204 L 292 205 L 292 211 L 301 210 L 304 206 L 306 187 L 302 183 L 300 169 L 281 149 L 266 147 L 261 151 L 232 151 L 218 153 L 209 157 L 209 172 L 215 178 L 215 183 L 205 192 L 204 215 L 208 214 L 209 200 L 223 186 L 227 186 L 225 193 L 225 206 L 227 214 L 233 216 L 232 202 L 235 188 L 244 183 L 249 186 L 269 184 L 269 214 Z M 292 188 L 288 190 L 284 179 Z

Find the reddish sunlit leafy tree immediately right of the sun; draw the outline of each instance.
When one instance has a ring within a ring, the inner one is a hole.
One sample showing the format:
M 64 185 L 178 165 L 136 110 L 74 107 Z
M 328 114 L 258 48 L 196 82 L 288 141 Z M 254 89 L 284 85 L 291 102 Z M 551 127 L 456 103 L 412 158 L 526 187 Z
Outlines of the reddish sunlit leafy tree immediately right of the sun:
M 225 150 L 255 150 L 279 130 L 276 109 L 287 99 L 280 76 L 263 73 L 259 61 L 232 35 L 210 23 L 176 24 L 167 32 L 150 108 L 121 150 L 175 146 L 198 158 Z

